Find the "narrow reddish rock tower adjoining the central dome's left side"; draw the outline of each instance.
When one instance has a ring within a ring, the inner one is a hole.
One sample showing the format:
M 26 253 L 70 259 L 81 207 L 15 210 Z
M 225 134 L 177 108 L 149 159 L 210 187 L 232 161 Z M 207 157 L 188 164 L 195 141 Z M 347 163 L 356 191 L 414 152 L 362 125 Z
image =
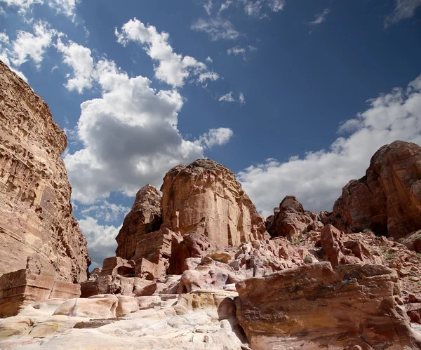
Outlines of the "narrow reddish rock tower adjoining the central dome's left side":
M 124 218 L 123 227 L 116 237 L 116 256 L 131 260 L 142 236 L 158 231 L 161 223 L 161 194 L 147 184 L 138 191 L 132 210 Z

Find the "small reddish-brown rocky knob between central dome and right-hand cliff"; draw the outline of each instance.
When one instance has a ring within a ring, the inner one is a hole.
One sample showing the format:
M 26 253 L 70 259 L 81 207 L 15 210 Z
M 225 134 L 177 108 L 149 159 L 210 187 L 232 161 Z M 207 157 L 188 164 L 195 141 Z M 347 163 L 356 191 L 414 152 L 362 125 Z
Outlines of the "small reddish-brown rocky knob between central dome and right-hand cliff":
M 283 236 L 295 239 L 308 231 L 320 231 L 323 228 L 317 213 L 304 210 L 295 196 L 286 196 L 274 209 L 274 215 L 266 220 L 266 229 L 272 237 Z

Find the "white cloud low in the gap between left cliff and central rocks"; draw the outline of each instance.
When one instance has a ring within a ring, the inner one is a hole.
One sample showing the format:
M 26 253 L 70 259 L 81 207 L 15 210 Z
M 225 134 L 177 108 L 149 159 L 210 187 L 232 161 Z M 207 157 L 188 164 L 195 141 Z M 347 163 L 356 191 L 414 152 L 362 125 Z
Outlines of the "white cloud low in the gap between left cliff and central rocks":
M 92 267 L 102 267 L 105 257 L 116 255 L 116 236 L 119 234 L 119 227 L 100 225 L 93 217 L 84 217 L 79 220 L 83 236 L 88 241 L 88 253 L 91 255 Z

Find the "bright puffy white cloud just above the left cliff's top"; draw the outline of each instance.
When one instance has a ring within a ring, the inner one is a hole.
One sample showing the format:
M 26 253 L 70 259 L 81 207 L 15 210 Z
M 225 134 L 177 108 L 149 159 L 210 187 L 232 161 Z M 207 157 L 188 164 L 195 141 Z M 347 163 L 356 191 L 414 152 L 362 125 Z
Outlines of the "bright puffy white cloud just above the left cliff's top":
M 59 35 L 47 22 L 36 22 L 33 28 L 34 34 L 19 30 L 18 36 L 11 44 L 11 61 L 14 65 L 19 66 L 32 59 L 36 67 L 40 67 L 46 49 L 51 46 L 53 36 Z

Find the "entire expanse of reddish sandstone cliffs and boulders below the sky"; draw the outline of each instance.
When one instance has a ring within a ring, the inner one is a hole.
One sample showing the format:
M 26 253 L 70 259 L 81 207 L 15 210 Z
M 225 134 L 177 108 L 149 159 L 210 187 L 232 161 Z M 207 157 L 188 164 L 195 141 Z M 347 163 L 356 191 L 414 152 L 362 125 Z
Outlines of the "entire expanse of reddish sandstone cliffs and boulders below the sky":
M 1 67 L 0 349 L 421 349 L 416 144 L 380 148 L 333 213 L 286 196 L 266 222 L 225 166 L 176 166 L 87 279 L 65 135 Z

